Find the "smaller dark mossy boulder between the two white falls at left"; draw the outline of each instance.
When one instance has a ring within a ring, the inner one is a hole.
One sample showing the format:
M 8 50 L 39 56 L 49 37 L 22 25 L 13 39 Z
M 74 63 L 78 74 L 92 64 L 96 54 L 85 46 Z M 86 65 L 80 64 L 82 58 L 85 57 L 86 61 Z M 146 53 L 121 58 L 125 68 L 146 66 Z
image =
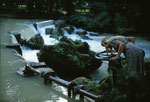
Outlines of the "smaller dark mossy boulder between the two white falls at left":
M 28 46 L 31 49 L 41 49 L 44 45 L 44 40 L 40 34 L 36 34 L 28 41 L 25 41 L 24 45 Z

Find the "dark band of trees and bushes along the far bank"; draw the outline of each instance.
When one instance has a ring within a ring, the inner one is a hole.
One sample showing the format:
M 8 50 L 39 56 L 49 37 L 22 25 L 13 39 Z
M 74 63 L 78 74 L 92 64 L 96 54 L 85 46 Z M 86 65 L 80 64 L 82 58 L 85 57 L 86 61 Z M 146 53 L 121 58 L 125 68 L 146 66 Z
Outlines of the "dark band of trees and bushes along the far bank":
M 1 12 L 19 12 L 18 9 L 19 16 L 47 16 L 54 19 L 66 17 L 70 24 L 100 33 L 142 36 L 150 33 L 147 26 L 150 23 L 148 0 L 0 1 Z

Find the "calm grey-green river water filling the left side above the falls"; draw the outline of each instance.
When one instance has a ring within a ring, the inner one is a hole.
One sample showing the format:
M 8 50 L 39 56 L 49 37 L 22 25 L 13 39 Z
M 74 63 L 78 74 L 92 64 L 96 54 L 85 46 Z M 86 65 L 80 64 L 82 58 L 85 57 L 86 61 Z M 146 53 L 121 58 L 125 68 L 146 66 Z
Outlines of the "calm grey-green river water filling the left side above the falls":
M 19 76 L 16 71 L 27 62 L 16 51 L 5 47 L 5 44 L 15 43 L 7 32 L 21 32 L 23 38 L 29 39 L 36 32 L 24 23 L 38 21 L 0 18 L 0 102 L 68 102 L 64 87 L 55 83 L 52 86 L 44 85 L 40 76 Z M 33 54 L 26 55 L 31 50 L 23 49 L 24 56 L 28 56 L 29 61 L 37 60 L 34 57 L 30 59 Z

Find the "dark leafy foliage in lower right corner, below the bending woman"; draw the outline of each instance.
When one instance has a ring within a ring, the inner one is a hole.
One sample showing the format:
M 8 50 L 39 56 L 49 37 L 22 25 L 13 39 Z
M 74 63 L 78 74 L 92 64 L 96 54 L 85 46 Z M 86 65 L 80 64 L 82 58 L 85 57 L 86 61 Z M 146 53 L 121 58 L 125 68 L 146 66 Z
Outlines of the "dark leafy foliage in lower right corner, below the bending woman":
M 120 63 L 120 64 L 119 64 Z M 145 67 L 149 66 L 150 61 L 145 60 Z M 121 69 L 118 69 L 120 67 Z M 128 72 L 126 61 L 116 63 L 111 66 L 116 70 L 116 79 L 113 81 L 113 87 L 108 88 L 103 93 L 102 102 L 149 102 L 150 79 L 149 68 L 146 75 L 140 76 L 136 72 Z

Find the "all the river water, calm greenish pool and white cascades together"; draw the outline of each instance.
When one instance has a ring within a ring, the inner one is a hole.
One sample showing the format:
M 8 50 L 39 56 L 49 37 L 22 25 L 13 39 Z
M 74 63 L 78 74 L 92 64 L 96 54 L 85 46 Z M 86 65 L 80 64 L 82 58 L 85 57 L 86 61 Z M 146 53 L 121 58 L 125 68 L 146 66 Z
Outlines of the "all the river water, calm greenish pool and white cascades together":
M 44 85 L 43 79 L 40 76 L 21 77 L 16 74 L 16 71 L 23 67 L 27 61 L 38 62 L 36 53 L 39 50 L 31 50 L 22 46 L 23 56 L 17 54 L 16 51 L 8 49 L 5 44 L 17 43 L 13 36 L 7 32 L 20 32 L 21 37 L 29 39 L 37 33 L 40 33 L 46 45 L 53 45 L 58 43 L 54 38 L 50 38 L 45 34 L 45 28 L 55 28 L 54 25 L 38 26 L 38 31 L 31 25 L 32 22 L 39 22 L 40 20 L 21 20 L 0 18 L 0 45 L 1 45 L 1 59 L 0 59 L 0 101 L 2 102 L 67 102 L 67 90 L 55 83 Z M 75 28 L 75 31 L 81 30 Z M 74 31 L 74 32 L 75 32 Z M 89 33 L 89 32 L 88 32 Z M 104 48 L 100 45 L 101 36 L 88 36 L 93 40 L 84 40 L 79 35 L 73 33 L 71 35 L 65 32 L 65 36 L 76 40 L 80 39 L 86 41 L 90 45 L 90 49 L 96 52 L 103 51 Z M 112 36 L 112 35 L 107 35 Z M 144 49 L 146 57 L 150 58 L 150 42 L 143 38 L 136 38 L 136 44 Z M 92 75 L 92 80 L 99 81 L 103 76 L 107 75 L 107 61 L 96 70 Z M 62 94 L 63 93 L 63 94 Z M 72 102 L 72 101 L 71 101 Z

